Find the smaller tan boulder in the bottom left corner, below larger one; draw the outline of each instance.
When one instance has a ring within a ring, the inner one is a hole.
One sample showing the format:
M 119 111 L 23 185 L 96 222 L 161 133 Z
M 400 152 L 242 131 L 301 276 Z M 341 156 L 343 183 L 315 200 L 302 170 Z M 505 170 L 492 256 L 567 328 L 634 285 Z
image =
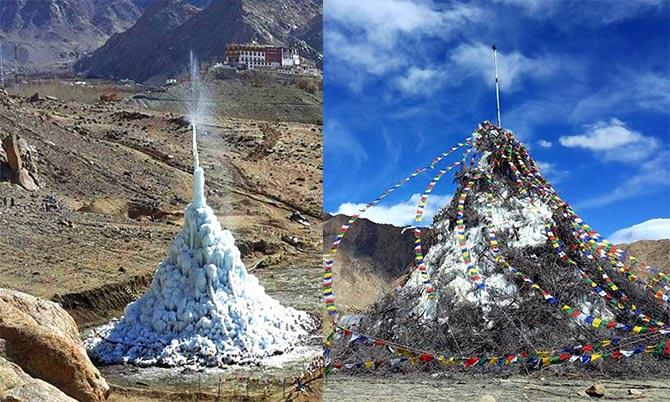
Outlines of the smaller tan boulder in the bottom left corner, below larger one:
M 75 402 L 53 385 L 32 378 L 0 357 L 0 402 Z

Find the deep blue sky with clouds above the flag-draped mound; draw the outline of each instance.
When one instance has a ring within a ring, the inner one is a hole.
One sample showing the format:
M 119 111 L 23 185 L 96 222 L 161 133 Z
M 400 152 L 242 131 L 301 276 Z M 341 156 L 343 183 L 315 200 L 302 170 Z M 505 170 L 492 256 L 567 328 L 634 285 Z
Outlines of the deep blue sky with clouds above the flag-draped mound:
M 353 212 L 494 121 L 493 42 L 503 126 L 560 195 L 615 240 L 670 237 L 667 1 L 325 0 L 325 210 Z M 428 181 L 369 217 L 408 224 Z

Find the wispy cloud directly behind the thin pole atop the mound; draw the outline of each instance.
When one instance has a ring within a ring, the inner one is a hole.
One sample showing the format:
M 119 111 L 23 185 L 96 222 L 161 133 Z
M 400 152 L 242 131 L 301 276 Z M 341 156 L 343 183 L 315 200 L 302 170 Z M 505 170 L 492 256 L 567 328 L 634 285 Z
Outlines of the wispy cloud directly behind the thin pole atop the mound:
M 451 52 L 450 60 L 457 69 L 454 75 L 479 76 L 488 86 L 495 85 L 491 46 L 483 43 L 461 44 Z M 518 51 L 498 50 L 500 88 L 513 92 L 526 78 L 543 78 L 558 71 L 559 61 L 550 57 L 530 58 Z

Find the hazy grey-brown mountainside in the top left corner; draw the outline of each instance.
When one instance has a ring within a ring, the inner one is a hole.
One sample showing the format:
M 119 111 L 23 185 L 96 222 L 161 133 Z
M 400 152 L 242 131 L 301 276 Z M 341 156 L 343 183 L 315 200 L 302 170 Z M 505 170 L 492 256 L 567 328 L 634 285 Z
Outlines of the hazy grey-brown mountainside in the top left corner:
M 68 65 L 140 15 L 132 0 L 0 1 L 5 68 L 13 65 L 15 45 L 21 70 Z

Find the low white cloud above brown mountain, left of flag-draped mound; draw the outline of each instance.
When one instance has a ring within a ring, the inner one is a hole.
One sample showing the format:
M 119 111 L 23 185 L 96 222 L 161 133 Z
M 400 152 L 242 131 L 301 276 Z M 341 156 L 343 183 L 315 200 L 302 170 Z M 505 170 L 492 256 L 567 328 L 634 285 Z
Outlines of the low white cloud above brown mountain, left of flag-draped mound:
M 432 194 L 424 208 L 422 225 L 429 225 L 433 221 L 433 216 L 443 206 L 449 204 L 451 195 Z M 421 198 L 420 194 L 413 194 L 409 200 L 398 202 L 392 205 L 376 205 L 367 210 L 363 218 L 377 223 L 388 223 L 395 226 L 414 225 L 417 204 Z M 352 215 L 358 213 L 365 204 L 346 202 L 341 204 L 334 214 Z

